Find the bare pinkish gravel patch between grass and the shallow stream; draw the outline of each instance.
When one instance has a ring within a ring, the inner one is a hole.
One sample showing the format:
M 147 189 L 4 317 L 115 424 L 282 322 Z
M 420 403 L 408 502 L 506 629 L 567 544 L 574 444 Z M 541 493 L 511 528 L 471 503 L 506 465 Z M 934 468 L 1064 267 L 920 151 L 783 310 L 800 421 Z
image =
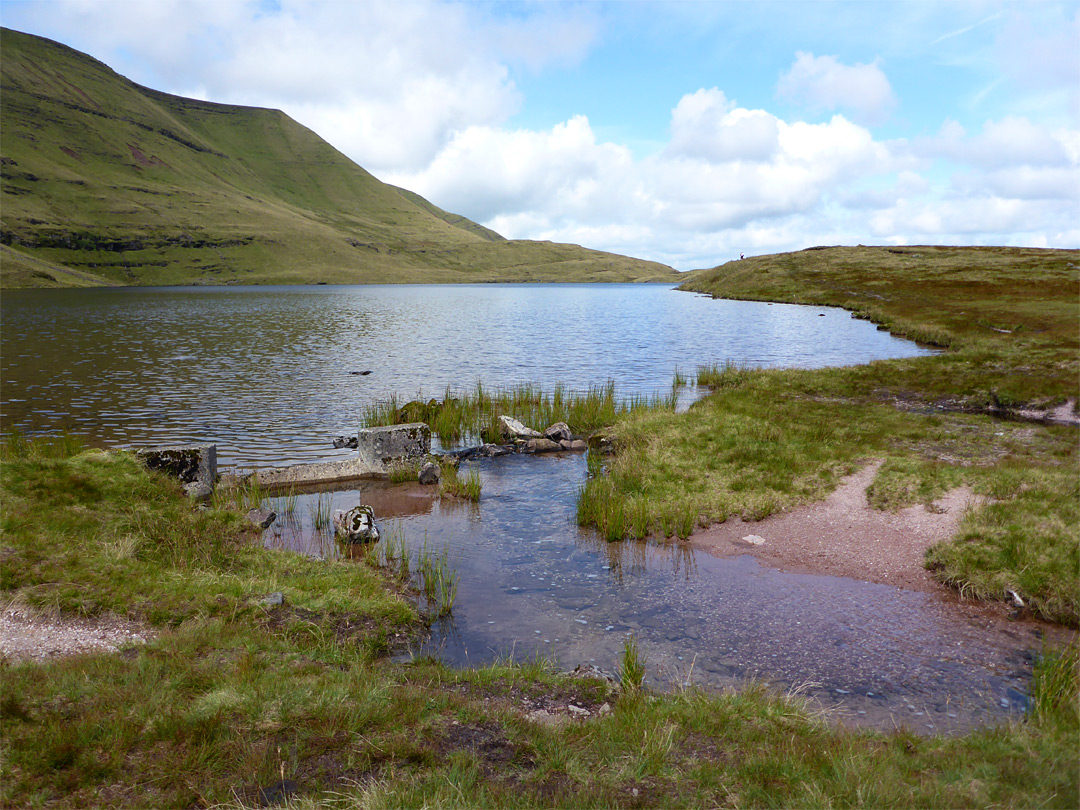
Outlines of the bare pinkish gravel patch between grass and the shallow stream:
M 690 542 L 717 556 L 753 554 L 785 571 L 941 591 L 941 583 L 923 567 L 923 555 L 956 532 L 974 496 L 960 487 L 936 501 L 933 511 L 920 504 L 881 512 L 866 503 L 866 487 L 880 465 L 874 461 L 845 478 L 824 501 L 757 523 L 734 517 L 696 532 Z M 764 542 L 756 544 L 754 538 Z

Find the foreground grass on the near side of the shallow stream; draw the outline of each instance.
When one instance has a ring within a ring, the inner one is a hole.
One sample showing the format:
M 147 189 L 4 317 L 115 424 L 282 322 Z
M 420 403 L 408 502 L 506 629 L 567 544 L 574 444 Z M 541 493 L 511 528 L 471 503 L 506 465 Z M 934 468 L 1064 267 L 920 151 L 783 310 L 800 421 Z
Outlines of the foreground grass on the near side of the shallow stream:
M 653 694 L 543 660 L 397 665 L 383 656 L 417 613 L 396 576 L 265 550 L 239 513 L 199 510 L 130 456 L 55 447 L 0 454 L 4 598 L 62 618 L 112 612 L 153 637 L 0 663 L 5 807 L 254 807 L 282 779 L 297 786 L 289 807 L 1080 799 L 1075 649 L 1039 662 L 1029 719 L 957 739 L 843 730 L 760 686 Z M 264 606 L 274 591 L 285 604 Z M 532 723 L 538 701 L 593 716 Z

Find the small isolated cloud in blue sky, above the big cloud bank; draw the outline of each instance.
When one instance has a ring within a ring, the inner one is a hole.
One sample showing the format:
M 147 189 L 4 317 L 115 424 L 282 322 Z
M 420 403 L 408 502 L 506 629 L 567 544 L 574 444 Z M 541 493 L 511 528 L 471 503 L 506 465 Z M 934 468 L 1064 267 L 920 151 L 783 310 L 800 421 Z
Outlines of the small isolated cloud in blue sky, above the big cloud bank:
M 881 123 L 896 106 L 880 58 L 869 65 L 843 65 L 835 56 L 799 51 L 777 92 L 813 111 L 848 110 L 866 124 Z

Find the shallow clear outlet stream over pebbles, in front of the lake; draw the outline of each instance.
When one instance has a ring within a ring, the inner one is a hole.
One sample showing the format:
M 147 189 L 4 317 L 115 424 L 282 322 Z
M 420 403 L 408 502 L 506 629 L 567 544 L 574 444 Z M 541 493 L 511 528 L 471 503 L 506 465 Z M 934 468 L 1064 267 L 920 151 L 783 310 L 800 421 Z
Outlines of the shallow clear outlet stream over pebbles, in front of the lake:
M 368 503 L 383 537 L 403 534 L 414 553 L 445 552 L 459 576 L 454 612 L 413 653 L 451 665 L 542 656 L 615 674 L 633 635 L 656 689 L 760 679 L 845 723 L 920 733 L 1023 716 L 1044 625 L 1005 622 L 939 594 L 785 573 L 678 541 L 608 543 L 576 524 L 583 456 L 469 463 L 483 481 L 478 503 L 379 482 L 309 494 L 267 530 L 267 544 L 336 553 L 332 529 L 312 530 L 321 498 L 333 509 Z

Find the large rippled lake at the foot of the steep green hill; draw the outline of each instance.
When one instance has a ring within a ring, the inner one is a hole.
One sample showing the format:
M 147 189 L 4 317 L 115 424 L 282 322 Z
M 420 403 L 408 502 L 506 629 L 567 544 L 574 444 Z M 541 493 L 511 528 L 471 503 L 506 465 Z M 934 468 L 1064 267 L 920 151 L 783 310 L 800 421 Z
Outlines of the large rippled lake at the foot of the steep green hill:
M 346 458 L 333 437 L 393 393 L 613 379 L 620 394 L 653 394 L 676 366 L 923 353 L 841 310 L 654 284 L 5 291 L 0 321 L 3 430 L 208 442 L 244 467 Z

